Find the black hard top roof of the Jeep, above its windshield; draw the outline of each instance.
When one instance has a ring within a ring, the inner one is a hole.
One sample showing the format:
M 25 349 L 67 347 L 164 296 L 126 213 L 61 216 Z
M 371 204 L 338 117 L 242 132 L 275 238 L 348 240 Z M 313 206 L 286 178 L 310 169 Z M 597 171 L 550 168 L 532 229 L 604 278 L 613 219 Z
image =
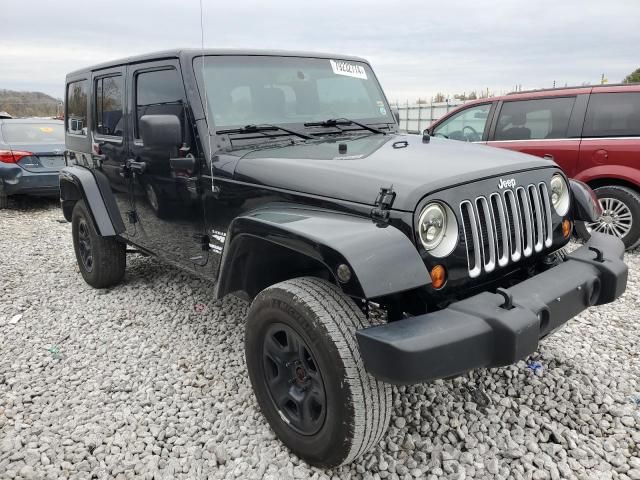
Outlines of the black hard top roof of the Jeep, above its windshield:
M 247 50 L 233 48 L 178 48 L 173 50 L 164 50 L 160 52 L 145 53 L 143 55 L 135 55 L 132 57 L 120 58 L 109 62 L 99 63 L 87 68 L 81 68 L 70 72 L 67 76 L 74 76 L 87 71 L 102 70 L 104 68 L 116 67 L 118 65 L 126 65 L 129 63 L 145 62 L 150 60 L 160 60 L 163 58 L 180 58 L 180 57 L 198 57 L 201 55 L 246 55 L 246 56 L 273 56 L 273 57 L 310 57 L 310 58 L 335 58 L 340 60 L 352 60 L 356 62 L 369 63 L 364 58 L 352 55 L 320 53 L 320 52 L 303 52 L 289 50 Z

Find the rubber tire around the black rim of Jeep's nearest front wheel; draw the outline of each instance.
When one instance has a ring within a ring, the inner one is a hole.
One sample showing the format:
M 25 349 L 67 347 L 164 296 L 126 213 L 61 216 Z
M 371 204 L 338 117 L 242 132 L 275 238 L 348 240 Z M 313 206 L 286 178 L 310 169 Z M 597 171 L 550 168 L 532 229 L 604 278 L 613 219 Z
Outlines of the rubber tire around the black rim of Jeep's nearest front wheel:
M 326 391 L 326 417 L 317 433 L 303 435 L 284 420 L 267 386 L 264 342 L 270 326 L 285 324 L 311 348 Z M 263 290 L 245 329 L 245 356 L 264 416 L 280 440 L 311 465 L 350 463 L 384 435 L 391 416 L 391 386 L 366 372 L 355 331 L 369 326 L 362 311 L 336 286 L 311 277 Z

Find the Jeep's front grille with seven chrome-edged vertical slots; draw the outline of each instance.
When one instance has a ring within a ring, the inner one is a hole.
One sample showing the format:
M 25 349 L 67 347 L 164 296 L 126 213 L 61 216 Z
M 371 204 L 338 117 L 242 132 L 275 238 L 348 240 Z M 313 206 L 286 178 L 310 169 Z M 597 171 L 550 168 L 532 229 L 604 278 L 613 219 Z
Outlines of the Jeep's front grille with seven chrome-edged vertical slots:
M 551 204 L 544 182 L 465 200 L 460 214 L 472 278 L 551 246 Z

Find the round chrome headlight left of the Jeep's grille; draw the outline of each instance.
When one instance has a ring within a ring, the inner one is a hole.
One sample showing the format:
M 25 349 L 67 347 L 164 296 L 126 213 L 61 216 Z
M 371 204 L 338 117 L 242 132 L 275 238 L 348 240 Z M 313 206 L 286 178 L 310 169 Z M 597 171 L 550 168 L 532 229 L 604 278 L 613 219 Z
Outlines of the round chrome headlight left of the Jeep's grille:
M 420 213 L 420 241 L 435 257 L 449 255 L 458 243 L 458 222 L 453 211 L 440 202 L 431 202 Z

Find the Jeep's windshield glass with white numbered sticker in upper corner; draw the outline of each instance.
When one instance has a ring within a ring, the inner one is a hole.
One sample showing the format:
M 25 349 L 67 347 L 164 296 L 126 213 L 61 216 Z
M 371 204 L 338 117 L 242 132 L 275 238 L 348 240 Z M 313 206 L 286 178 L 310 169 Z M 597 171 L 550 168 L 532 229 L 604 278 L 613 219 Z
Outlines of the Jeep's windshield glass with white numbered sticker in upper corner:
M 202 82 L 202 57 L 194 68 Z M 207 56 L 204 85 L 217 129 L 348 118 L 392 123 L 371 68 L 362 62 L 302 57 Z

